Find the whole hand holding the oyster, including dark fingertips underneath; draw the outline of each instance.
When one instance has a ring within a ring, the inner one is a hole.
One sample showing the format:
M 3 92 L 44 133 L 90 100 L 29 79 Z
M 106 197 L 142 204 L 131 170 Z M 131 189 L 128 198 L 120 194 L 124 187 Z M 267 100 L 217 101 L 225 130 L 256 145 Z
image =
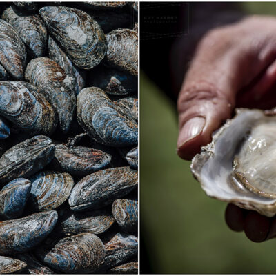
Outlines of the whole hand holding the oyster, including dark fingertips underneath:
M 190 160 L 200 152 L 235 107 L 276 106 L 275 58 L 274 17 L 247 17 L 201 39 L 177 101 L 179 157 Z M 232 204 L 226 209 L 226 222 L 254 242 L 276 234 L 275 219 Z

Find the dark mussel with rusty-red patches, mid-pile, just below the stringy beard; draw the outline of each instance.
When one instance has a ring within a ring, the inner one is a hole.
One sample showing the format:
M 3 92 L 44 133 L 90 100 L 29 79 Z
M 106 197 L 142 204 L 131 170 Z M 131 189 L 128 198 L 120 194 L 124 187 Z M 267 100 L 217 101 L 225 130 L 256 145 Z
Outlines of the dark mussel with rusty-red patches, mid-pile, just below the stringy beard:
M 55 147 L 53 166 L 57 170 L 63 170 L 72 175 L 89 175 L 105 168 L 111 161 L 108 153 L 94 148 L 67 146 L 66 144 L 58 144 Z

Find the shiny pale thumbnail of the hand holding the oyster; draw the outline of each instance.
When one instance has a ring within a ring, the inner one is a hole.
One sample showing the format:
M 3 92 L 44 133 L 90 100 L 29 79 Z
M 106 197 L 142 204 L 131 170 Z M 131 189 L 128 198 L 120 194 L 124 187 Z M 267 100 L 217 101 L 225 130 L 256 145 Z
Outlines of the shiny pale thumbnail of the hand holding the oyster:
M 177 140 L 177 148 L 180 148 L 190 139 L 193 139 L 201 133 L 205 126 L 205 118 L 204 117 L 194 117 L 186 121 L 184 126 L 179 132 L 178 140 Z

